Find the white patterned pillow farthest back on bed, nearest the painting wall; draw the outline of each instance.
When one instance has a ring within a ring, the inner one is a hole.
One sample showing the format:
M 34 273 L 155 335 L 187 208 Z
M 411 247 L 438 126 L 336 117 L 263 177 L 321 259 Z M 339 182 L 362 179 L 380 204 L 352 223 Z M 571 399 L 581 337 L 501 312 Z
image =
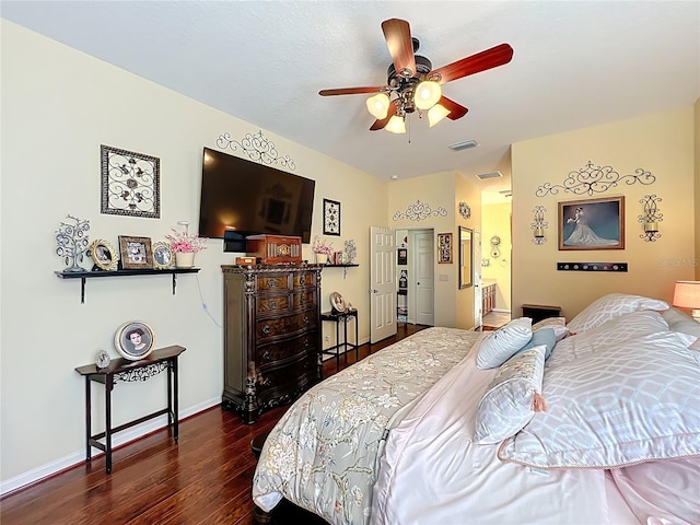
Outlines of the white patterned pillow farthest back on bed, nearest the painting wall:
M 567 325 L 571 332 L 581 334 L 608 320 L 641 310 L 668 310 L 668 304 L 657 299 L 626 293 L 609 293 L 595 300 Z

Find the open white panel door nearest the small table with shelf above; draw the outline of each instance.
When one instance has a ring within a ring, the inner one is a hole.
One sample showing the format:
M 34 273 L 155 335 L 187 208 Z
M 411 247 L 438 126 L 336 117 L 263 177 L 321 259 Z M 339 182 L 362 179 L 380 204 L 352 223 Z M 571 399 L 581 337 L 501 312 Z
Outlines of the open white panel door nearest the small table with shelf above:
M 370 226 L 370 342 L 396 335 L 394 230 Z

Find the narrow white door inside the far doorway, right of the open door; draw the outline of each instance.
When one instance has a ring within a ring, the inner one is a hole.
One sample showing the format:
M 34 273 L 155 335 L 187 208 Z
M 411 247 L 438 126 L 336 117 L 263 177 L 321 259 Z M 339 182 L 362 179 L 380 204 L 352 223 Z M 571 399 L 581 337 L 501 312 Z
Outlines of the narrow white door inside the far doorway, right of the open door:
M 434 234 L 432 230 L 411 233 L 412 241 L 409 241 L 409 246 L 415 246 L 413 259 L 416 260 L 412 279 L 415 283 L 412 295 L 416 298 L 415 319 L 419 325 L 433 326 L 435 324 Z

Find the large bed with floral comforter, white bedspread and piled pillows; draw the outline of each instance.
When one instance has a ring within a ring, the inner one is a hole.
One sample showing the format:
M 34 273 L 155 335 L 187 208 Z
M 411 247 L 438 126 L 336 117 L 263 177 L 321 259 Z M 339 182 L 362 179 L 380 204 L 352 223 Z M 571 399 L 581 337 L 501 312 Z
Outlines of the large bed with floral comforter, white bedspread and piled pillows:
M 608 294 L 570 323 L 421 330 L 290 407 L 254 502 L 331 524 L 698 524 L 699 326 Z

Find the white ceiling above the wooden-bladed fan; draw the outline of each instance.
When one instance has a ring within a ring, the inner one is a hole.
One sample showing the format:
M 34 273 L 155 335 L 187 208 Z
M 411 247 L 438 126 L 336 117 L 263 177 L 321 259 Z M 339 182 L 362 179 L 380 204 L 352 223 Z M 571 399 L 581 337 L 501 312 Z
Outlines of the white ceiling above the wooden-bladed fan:
M 270 132 L 390 179 L 500 170 L 510 144 L 700 97 L 700 1 L 2 1 L 4 19 Z M 369 131 L 390 57 L 382 21 L 407 20 L 439 68 L 501 43 L 513 60 L 450 82 L 469 108 L 408 135 Z M 255 130 L 257 131 L 257 130 Z M 254 132 L 255 132 L 254 131 Z M 479 147 L 452 152 L 474 139 Z M 587 161 L 585 151 L 582 162 Z M 301 167 L 301 166 L 300 166 Z M 300 171 L 301 172 L 301 171 Z

